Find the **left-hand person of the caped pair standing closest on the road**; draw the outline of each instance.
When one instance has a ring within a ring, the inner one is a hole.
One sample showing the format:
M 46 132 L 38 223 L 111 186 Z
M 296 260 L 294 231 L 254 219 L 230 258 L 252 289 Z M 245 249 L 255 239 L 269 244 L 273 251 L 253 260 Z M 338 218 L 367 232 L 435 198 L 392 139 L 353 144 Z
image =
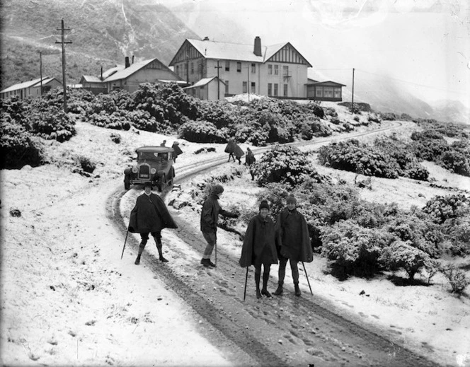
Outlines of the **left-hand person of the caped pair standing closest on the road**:
M 268 280 L 271 264 L 277 264 L 275 245 L 275 226 L 273 219 L 268 216 L 269 204 L 263 200 L 260 212 L 253 216 L 246 228 L 239 264 L 241 267 L 255 267 L 256 298 L 262 295 L 270 297 Z M 263 265 L 263 289 L 260 291 L 261 265 Z

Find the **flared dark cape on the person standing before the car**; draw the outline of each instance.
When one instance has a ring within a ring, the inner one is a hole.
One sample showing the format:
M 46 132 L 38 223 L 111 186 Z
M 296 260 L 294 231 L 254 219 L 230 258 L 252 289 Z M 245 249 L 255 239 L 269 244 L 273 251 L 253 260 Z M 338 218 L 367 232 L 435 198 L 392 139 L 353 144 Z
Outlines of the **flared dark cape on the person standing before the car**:
M 164 201 L 153 192 L 148 196 L 137 197 L 134 209 L 130 212 L 129 231 L 131 233 L 158 232 L 164 228 L 178 228 Z

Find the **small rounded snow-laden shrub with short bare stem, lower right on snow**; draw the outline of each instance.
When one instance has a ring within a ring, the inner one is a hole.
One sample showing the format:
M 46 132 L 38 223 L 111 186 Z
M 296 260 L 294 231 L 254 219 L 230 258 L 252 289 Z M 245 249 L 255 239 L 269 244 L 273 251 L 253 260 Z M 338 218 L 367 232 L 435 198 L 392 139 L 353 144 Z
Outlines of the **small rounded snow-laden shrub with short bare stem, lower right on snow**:
M 379 261 L 390 270 L 404 269 L 408 280 L 413 280 L 415 274 L 429 261 L 429 255 L 414 247 L 411 241 L 397 240 L 384 248 Z

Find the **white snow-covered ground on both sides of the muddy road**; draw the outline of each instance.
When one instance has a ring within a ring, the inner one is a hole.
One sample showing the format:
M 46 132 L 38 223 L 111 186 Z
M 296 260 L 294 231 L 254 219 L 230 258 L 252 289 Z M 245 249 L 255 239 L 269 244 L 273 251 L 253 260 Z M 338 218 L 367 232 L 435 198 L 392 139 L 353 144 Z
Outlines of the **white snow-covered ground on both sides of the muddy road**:
M 207 334 L 210 327 L 185 300 L 147 267 L 134 265 L 131 250 L 120 260 L 125 233 L 115 230 L 105 210 L 110 194 L 123 185 L 122 170 L 131 162 L 134 148 L 159 145 L 163 139 L 171 144 L 174 136 L 118 132 L 121 142 L 115 144 L 110 139 L 115 131 L 82 122 L 76 128 L 77 136 L 71 141 L 48 143 L 50 165 L 1 171 L 1 363 L 237 364 L 212 342 L 214 338 Z M 184 153 L 175 165 L 177 175 L 178 166 L 224 150 L 224 144 L 211 144 L 217 148 L 215 153 L 196 155 L 194 151 L 209 145 L 178 141 Z M 79 156 L 97 163 L 91 177 L 71 173 Z M 223 165 L 216 173 L 233 166 Z M 436 183 L 470 188 L 468 178 L 430 168 Z M 353 176 L 341 173 L 348 182 Z M 246 173 L 225 185 L 222 205 L 254 203 L 260 189 L 248 177 Z M 193 182 L 197 180 L 201 178 Z M 191 183 L 186 183 L 182 195 L 190 188 Z M 379 179 L 373 179 L 372 191 L 364 193 L 366 198 L 401 206 L 424 204 L 432 194 L 442 193 L 410 180 Z M 21 216 L 12 216 L 14 209 Z M 189 207 L 180 209 L 178 216 L 197 226 L 197 213 Z M 236 238 L 222 231 L 220 235 L 221 242 L 234 243 L 231 250 L 236 256 Z M 164 231 L 164 251 L 181 241 L 171 230 Z M 200 260 L 197 255 L 195 262 Z M 176 266 L 176 260 L 169 260 L 162 266 Z M 314 294 L 335 303 L 345 315 L 387 332 L 394 330 L 410 348 L 442 364 L 470 366 L 470 301 L 468 296 L 449 293 L 444 279 L 436 276 L 428 287 L 397 287 L 386 279 L 340 282 L 324 274 L 326 262 L 320 257 L 306 266 Z M 275 276 L 277 267 L 273 269 Z M 308 296 L 306 281 L 301 280 L 303 296 Z M 360 295 L 362 290 L 365 294 Z

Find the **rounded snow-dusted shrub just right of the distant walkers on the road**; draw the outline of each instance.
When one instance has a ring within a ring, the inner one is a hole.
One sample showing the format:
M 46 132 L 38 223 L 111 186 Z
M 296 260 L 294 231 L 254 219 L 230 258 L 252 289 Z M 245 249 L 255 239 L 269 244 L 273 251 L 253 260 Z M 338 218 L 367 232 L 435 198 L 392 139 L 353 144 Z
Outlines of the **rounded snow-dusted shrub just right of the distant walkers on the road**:
M 326 177 L 319 175 L 307 158 L 307 154 L 292 146 L 276 145 L 253 164 L 258 185 L 270 182 L 284 182 L 296 187 L 311 177 L 323 182 Z

